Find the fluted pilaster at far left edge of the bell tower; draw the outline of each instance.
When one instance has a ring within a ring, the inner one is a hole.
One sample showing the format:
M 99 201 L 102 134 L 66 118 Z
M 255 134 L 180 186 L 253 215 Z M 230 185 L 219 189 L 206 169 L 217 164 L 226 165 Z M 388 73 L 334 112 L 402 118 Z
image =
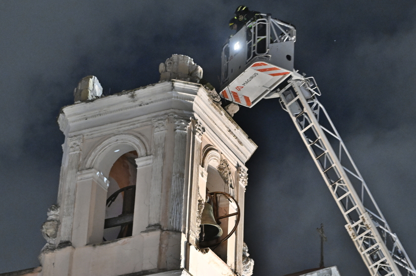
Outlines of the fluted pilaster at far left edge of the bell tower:
M 74 136 L 67 139 L 68 157 L 65 176 L 63 177 L 61 228 L 59 243 L 69 242 L 72 236 L 72 223 L 74 219 L 74 203 L 77 171 L 81 157 L 83 136 Z

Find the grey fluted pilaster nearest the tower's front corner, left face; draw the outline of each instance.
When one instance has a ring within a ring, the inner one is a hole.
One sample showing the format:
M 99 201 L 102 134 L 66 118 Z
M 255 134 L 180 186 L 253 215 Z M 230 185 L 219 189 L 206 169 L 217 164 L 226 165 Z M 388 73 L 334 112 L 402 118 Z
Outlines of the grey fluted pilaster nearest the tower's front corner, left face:
M 185 177 L 186 139 L 189 120 L 174 116 L 175 146 L 173 153 L 172 184 L 170 188 L 168 230 L 182 230 L 183 185 Z

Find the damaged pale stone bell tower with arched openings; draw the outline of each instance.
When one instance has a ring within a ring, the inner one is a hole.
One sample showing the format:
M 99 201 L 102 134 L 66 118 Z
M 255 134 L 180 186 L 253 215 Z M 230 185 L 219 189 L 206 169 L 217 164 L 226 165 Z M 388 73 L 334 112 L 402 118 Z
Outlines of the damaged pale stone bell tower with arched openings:
M 245 162 L 257 146 L 192 59 L 173 55 L 159 72 L 158 83 L 105 97 L 88 76 L 61 109 L 39 276 L 252 274 Z

